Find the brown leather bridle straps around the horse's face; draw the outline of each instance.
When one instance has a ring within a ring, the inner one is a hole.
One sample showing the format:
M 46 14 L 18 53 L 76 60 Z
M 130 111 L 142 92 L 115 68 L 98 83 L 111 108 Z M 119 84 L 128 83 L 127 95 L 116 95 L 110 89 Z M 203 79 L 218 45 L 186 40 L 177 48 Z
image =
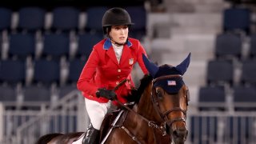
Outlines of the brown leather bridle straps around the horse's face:
M 167 78 L 182 78 L 182 75 L 179 75 L 179 74 L 171 74 L 171 75 L 165 75 L 165 76 L 161 76 L 161 77 L 158 77 L 158 78 L 154 78 L 152 80 L 152 83 L 154 84 L 155 82 L 158 82 L 162 79 L 167 79 Z M 156 96 L 156 89 L 154 86 L 152 86 L 152 93 L 151 93 L 151 98 L 152 98 L 152 102 L 153 102 L 153 105 L 154 105 L 154 109 L 158 111 L 158 114 L 160 115 L 160 117 L 162 118 L 162 121 L 163 123 L 167 123 L 168 126 L 171 126 L 173 124 L 173 122 L 178 122 L 178 121 L 182 121 L 182 122 L 186 122 L 186 110 L 183 110 L 182 108 L 180 107 L 174 107 L 170 110 L 167 110 L 165 112 L 161 112 L 160 110 L 160 106 L 159 106 L 159 99 L 158 97 Z M 184 118 L 174 118 L 174 119 L 168 119 L 168 114 L 174 112 L 174 111 L 181 111 L 185 117 Z

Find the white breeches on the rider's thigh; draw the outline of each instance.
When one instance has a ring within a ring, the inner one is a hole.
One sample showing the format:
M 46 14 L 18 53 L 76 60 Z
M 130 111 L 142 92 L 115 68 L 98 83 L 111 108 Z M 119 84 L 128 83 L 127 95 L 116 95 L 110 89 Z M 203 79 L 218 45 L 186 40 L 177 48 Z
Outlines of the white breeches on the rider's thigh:
M 94 129 L 99 130 L 102 126 L 102 121 L 105 118 L 107 110 L 110 108 L 110 101 L 107 103 L 100 103 L 85 98 L 86 110 Z

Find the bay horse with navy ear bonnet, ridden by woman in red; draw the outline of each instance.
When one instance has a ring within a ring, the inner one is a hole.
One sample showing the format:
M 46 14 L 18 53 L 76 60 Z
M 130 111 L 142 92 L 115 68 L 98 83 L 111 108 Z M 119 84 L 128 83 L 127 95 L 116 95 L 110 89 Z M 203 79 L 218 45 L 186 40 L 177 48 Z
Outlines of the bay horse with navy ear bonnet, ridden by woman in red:
M 150 75 L 141 79 L 138 90 L 132 90 L 121 105 L 119 118 L 110 115 L 102 123 L 100 142 L 103 144 L 183 144 L 186 142 L 186 111 L 189 90 L 182 79 L 190 64 L 190 54 L 178 65 L 156 66 L 145 55 L 143 61 Z M 117 120 L 118 119 L 118 120 Z M 115 122 L 113 122 L 115 121 Z M 84 132 L 46 134 L 36 144 L 82 143 Z

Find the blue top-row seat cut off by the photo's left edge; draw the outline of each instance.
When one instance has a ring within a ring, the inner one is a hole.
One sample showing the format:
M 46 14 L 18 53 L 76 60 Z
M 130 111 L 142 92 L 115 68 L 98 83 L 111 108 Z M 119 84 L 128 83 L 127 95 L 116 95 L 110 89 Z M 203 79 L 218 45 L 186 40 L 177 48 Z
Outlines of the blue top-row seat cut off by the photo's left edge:
M 0 31 L 10 30 L 11 28 L 12 10 L 0 7 Z

